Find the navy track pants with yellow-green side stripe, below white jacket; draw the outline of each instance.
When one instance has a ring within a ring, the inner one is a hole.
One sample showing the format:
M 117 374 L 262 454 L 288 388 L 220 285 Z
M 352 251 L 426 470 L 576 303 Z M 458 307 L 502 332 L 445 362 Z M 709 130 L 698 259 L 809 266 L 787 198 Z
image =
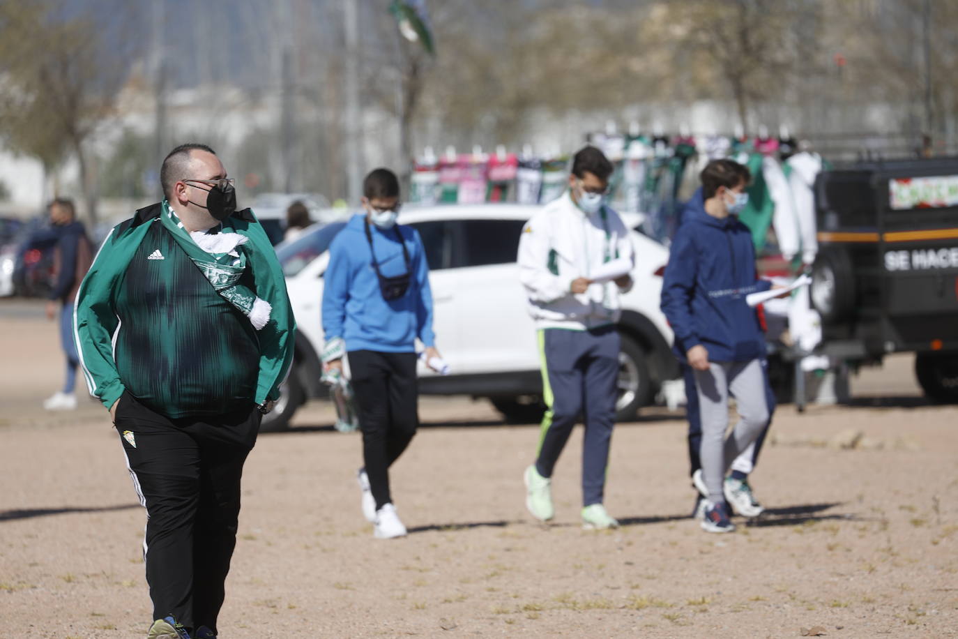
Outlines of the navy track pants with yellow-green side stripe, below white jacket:
M 562 448 L 582 414 L 582 505 L 601 504 L 615 421 L 619 333 L 613 326 L 592 331 L 543 329 L 538 339 L 547 410 L 542 419 L 536 470 L 543 477 L 552 477 Z

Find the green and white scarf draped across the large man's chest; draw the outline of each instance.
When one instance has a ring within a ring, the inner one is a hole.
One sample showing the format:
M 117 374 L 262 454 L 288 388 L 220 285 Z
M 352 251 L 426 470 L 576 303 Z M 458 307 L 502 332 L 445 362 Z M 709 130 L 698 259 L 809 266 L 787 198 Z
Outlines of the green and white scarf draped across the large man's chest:
M 257 297 L 248 286 L 239 284 L 239 278 L 246 270 L 246 249 L 243 244 L 249 238 L 227 231 L 225 225 L 218 233 L 188 233 L 166 201 L 163 202 L 160 221 L 223 299 L 248 317 L 257 331 L 266 326 L 272 306 Z

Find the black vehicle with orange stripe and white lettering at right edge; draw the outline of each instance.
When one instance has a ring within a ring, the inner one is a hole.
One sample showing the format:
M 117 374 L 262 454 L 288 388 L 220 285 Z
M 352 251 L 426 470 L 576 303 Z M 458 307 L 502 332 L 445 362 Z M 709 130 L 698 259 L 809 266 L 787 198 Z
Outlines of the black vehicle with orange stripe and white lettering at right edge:
M 958 401 L 958 157 L 859 163 L 815 182 L 817 350 L 913 352 L 926 396 Z

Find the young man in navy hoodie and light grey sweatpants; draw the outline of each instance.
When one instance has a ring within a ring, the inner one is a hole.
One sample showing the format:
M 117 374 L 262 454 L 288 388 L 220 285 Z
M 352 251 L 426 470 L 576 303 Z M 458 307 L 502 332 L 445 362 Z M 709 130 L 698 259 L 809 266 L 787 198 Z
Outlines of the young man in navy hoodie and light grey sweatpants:
M 675 234 L 662 285 L 662 311 L 675 333 L 673 350 L 693 370 L 701 420 L 700 460 L 708 492 L 701 522 L 711 533 L 735 530 L 723 492 L 725 472 L 763 432 L 769 406 L 762 369 L 764 338 L 748 293 L 767 290 L 757 281 L 755 249 L 738 214 L 748 201 L 750 175 L 731 160 L 714 160 L 701 172 Z M 725 438 L 728 396 L 740 420 Z

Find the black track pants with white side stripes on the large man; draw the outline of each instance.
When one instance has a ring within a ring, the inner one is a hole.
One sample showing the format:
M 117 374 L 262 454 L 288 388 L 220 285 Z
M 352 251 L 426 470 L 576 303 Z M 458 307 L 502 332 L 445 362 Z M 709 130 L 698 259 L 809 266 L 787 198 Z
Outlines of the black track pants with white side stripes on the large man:
M 262 415 L 252 401 L 217 417 L 170 419 L 128 392 L 116 429 L 140 503 L 153 619 L 217 631 L 236 546 L 239 478 Z

